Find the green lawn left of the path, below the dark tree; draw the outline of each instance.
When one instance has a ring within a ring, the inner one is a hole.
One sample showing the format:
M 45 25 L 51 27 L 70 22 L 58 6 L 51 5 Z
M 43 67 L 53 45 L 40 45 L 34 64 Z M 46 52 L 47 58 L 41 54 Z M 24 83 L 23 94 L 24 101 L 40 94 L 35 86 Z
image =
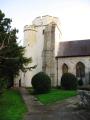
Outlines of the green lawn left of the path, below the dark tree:
M 26 112 L 18 90 L 7 90 L 0 95 L 0 120 L 22 120 Z

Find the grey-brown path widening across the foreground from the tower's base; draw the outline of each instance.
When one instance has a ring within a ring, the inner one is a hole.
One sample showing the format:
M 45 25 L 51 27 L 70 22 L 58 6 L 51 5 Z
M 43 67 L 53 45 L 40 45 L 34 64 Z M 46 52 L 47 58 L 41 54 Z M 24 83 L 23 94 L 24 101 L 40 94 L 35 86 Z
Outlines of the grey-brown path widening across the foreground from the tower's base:
M 90 120 L 90 112 L 77 109 L 78 96 L 52 106 L 42 105 L 25 88 L 20 88 L 28 107 L 24 120 Z

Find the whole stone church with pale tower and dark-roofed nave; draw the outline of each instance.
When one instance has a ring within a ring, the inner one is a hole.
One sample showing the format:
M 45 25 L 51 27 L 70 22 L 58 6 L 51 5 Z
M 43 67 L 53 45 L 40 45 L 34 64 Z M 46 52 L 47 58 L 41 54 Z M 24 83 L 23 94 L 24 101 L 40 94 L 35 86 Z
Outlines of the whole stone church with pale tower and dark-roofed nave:
M 35 69 L 20 73 L 21 86 L 30 87 L 32 77 L 43 71 L 52 86 L 60 86 L 63 73 L 71 72 L 84 84 L 90 83 L 90 40 L 60 42 L 60 22 L 57 17 L 36 17 L 24 27 L 25 57 L 31 57 L 28 67 Z M 17 80 L 15 83 L 19 85 Z

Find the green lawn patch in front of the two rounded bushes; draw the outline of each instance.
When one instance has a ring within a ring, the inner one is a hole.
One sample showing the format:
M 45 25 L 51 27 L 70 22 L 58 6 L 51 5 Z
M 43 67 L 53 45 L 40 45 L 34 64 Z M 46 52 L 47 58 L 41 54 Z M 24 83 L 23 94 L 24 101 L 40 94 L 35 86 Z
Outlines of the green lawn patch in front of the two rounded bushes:
M 41 103 L 47 105 L 57 101 L 65 100 L 76 95 L 77 95 L 76 91 L 52 89 L 49 93 L 39 94 L 35 96 Z

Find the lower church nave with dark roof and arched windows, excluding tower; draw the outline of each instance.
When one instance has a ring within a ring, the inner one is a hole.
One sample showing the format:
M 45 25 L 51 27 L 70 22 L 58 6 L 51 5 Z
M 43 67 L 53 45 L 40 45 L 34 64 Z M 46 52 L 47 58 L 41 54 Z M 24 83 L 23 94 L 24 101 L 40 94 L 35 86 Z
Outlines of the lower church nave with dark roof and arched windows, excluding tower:
M 57 85 L 67 72 L 82 79 L 84 85 L 90 84 L 90 39 L 60 42 L 56 60 Z

